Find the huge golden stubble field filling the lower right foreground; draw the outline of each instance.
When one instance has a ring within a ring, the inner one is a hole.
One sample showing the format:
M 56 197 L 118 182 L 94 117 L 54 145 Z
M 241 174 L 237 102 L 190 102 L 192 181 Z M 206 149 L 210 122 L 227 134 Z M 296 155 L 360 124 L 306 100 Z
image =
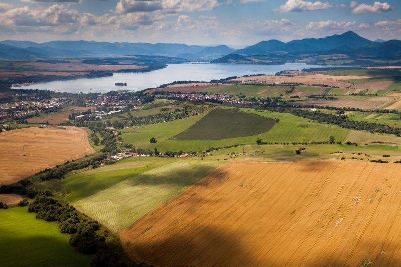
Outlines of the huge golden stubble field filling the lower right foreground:
M 120 232 L 155 265 L 401 264 L 399 164 L 229 163 Z

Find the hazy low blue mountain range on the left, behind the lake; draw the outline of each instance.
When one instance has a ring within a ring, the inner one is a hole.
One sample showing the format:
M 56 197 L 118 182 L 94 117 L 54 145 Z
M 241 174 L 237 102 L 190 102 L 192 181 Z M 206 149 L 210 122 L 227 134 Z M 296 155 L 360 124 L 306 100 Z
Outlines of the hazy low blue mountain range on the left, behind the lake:
M 225 45 L 204 47 L 185 44 L 108 43 L 94 41 L 0 42 L 1 58 L 33 60 L 38 58 L 109 57 L 148 55 L 201 59 L 208 61 L 229 54 L 234 49 Z M 17 51 L 22 52 L 21 56 Z

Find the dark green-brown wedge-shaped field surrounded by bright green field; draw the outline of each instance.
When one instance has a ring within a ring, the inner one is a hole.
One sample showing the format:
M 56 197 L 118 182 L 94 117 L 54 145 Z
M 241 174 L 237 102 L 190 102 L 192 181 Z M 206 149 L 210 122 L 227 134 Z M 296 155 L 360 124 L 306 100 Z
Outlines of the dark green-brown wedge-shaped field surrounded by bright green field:
M 172 140 L 219 140 L 269 131 L 275 120 L 234 109 L 214 109 Z

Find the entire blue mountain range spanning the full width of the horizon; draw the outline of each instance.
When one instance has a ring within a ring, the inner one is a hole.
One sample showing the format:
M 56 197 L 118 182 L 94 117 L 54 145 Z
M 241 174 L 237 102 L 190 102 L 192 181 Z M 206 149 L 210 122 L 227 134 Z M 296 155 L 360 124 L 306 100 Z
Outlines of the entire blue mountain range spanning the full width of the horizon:
M 354 32 L 325 38 L 281 42 L 262 41 L 234 50 L 225 45 L 205 47 L 185 44 L 109 43 L 95 41 L 0 42 L 0 58 L 35 60 L 49 58 L 99 58 L 147 55 L 182 58 L 212 63 L 282 64 L 301 61 L 316 64 L 355 65 L 369 61 L 401 64 L 401 41 L 370 41 Z M 374 64 L 374 63 L 373 63 Z

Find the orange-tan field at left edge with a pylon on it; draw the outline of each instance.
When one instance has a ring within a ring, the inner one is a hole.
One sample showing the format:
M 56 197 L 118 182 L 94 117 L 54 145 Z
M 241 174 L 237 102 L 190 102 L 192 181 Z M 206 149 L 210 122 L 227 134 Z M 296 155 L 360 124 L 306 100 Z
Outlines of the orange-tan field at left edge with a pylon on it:
M 23 128 L 0 133 L 0 185 L 93 153 L 85 130 Z

